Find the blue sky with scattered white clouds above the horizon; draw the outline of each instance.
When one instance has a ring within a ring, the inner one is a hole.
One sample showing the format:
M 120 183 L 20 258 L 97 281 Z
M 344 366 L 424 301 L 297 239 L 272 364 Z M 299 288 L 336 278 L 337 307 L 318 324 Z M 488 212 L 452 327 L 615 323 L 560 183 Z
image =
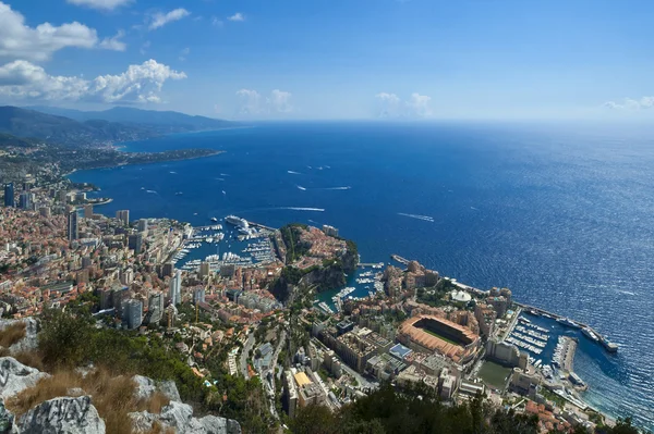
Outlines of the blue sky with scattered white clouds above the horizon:
M 0 0 L 0 103 L 650 120 L 653 13 L 647 1 Z

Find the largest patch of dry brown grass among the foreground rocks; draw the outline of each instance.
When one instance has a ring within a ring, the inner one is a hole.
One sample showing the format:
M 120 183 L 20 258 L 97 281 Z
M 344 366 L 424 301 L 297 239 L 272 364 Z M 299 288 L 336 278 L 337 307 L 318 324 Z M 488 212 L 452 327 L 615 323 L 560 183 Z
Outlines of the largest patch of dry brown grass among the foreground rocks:
M 85 377 L 71 370 L 57 371 L 52 376 L 40 380 L 34 387 L 10 398 L 5 405 L 20 417 L 48 399 L 68 396 L 68 390 L 73 387 L 80 387 L 90 395 L 93 405 L 105 420 L 107 433 L 131 433 L 132 421 L 128 413 L 142 410 L 158 413 L 170 401 L 160 392 L 153 394 L 149 399 L 136 399 L 136 383 L 131 377 L 112 376 L 105 369 L 96 369 Z M 160 426 L 159 431 L 153 432 L 164 433 Z

